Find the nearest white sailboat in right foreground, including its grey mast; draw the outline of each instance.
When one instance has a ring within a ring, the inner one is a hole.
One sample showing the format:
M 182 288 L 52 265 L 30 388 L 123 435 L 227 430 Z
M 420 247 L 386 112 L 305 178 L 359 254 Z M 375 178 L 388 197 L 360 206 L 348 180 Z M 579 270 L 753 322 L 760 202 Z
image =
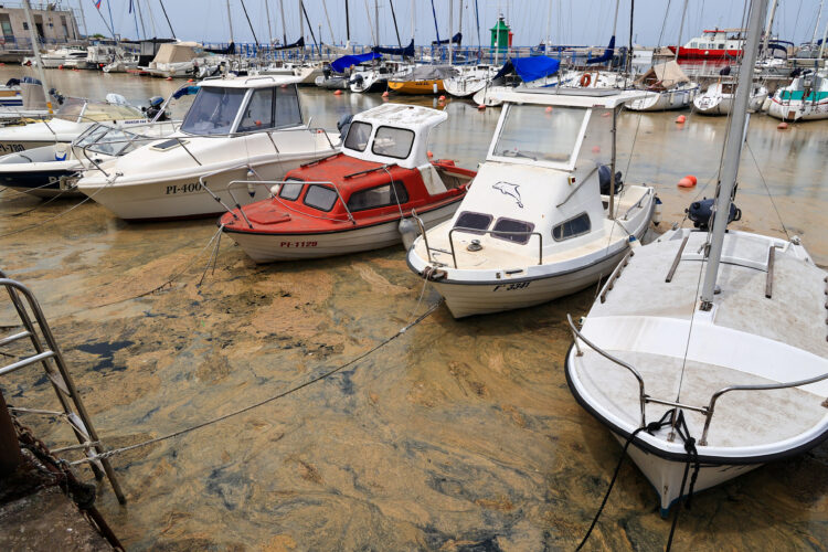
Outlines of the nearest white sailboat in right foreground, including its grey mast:
M 625 443 L 665 514 L 828 438 L 828 276 L 796 237 L 726 231 L 765 0 L 751 6 L 711 230 L 708 213 L 701 231 L 634 250 L 580 330 L 570 318 L 570 389 Z

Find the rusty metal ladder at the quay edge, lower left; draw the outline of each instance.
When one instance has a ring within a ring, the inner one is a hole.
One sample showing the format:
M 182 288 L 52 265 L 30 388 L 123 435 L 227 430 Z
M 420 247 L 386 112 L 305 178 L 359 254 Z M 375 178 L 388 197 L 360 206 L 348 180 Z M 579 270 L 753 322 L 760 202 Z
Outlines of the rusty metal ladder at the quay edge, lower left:
M 38 300 L 34 298 L 34 294 L 32 294 L 32 291 L 23 284 L 8 278 L 2 270 L 0 270 L 0 286 L 4 287 L 8 291 L 9 298 L 14 306 L 14 310 L 17 310 L 18 317 L 20 318 L 21 326 L 24 329 L 21 332 L 1 337 L 0 349 L 26 338 L 31 341 L 32 348 L 34 349 L 34 354 L 20 359 L 11 364 L 0 367 L 0 376 L 32 364 L 42 364 L 46 372 L 46 376 L 57 395 L 57 400 L 61 402 L 63 414 L 72 426 L 78 442 L 78 445 L 63 447 L 55 449 L 55 452 L 83 449 L 89 457 L 95 454 L 104 453 L 105 448 L 100 444 L 95 427 L 92 425 L 92 420 L 81 401 L 81 396 L 77 394 L 77 388 L 75 388 L 75 383 L 72 381 L 66 362 L 61 353 L 61 349 L 55 342 L 49 322 L 46 322 L 46 318 L 43 316 L 43 311 L 41 310 Z M 23 299 L 25 299 L 25 301 Z M 31 412 L 53 414 L 47 411 Z M 91 466 L 97 479 L 103 479 L 104 474 L 106 474 L 118 502 L 121 505 L 125 503 L 126 498 L 124 497 L 120 485 L 115 477 L 115 471 L 109 464 L 109 459 L 95 459 L 91 463 Z

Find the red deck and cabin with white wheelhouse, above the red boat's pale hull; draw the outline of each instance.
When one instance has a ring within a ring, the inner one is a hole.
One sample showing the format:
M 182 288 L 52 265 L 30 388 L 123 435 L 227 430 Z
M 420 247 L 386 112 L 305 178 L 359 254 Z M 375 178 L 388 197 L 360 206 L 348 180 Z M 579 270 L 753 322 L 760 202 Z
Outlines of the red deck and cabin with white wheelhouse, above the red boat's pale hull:
M 323 231 L 458 201 L 475 172 L 428 159 L 428 135 L 447 118 L 445 112 L 400 104 L 354 116 L 340 153 L 289 171 L 272 189 L 273 200 L 244 208 L 248 230 Z M 230 214 L 222 222 L 245 226 Z

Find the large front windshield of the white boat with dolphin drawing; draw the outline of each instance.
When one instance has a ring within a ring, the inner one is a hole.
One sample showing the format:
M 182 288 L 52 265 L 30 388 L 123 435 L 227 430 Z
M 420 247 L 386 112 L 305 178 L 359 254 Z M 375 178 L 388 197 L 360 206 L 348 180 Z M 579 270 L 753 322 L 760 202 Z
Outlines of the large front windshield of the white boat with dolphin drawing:
M 567 163 L 586 117 L 583 107 L 509 105 L 492 155 Z

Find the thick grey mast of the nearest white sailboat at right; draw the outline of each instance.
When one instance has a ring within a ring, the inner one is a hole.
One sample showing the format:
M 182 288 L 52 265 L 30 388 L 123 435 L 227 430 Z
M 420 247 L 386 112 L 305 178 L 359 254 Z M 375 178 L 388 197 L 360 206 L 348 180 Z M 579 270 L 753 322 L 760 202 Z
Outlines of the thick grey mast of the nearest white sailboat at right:
M 709 241 L 708 266 L 704 273 L 704 284 L 701 289 L 701 309 L 710 310 L 713 306 L 715 280 L 719 275 L 719 263 L 722 257 L 724 232 L 730 217 L 730 203 L 733 188 L 739 176 L 739 159 L 742 144 L 747 131 L 747 104 L 753 87 L 753 67 L 756 65 L 762 23 L 765 21 L 767 0 L 751 0 L 751 14 L 747 23 L 747 40 L 744 45 L 742 64 L 739 67 L 739 84 L 731 112 L 728 140 L 724 144 L 724 166 L 715 198 L 713 215 L 713 232 Z

